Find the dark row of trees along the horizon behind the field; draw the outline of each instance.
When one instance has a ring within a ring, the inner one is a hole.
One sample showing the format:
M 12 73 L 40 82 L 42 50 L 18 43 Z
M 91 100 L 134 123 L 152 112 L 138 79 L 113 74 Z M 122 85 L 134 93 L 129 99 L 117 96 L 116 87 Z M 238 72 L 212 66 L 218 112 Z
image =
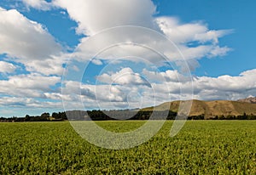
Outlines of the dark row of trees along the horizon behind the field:
M 0 117 L 1 122 L 23 122 L 23 121 L 110 121 L 110 120 L 175 120 L 185 119 L 185 116 L 177 116 L 177 112 L 171 110 L 71 110 L 66 112 L 47 112 L 41 116 L 25 117 Z M 253 114 L 244 113 L 241 116 L 212 116 L 205 115 L 189 116 L 188 120 L 256 120 Z

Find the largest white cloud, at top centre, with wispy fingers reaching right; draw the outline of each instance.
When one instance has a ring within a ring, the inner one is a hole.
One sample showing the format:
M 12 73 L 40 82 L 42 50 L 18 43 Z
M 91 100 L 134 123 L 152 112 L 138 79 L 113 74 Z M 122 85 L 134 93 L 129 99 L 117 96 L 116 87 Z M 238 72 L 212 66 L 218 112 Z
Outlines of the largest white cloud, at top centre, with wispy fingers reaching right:
M 100 59 L 131 59 L 127 56 L 145 58 L 152 64 L 163 64 L 166 60 L 157 52 L 177 65 L 181 65 L 180 60 L 186 59 L 193 63 L 189 68 L 195 70 L 199 65 L 198 59 L 224 56 L 231 50 L 227 46 L 220 47 L 218 39 L 232 30 L 211 30 L 201 21 L 183 24 L 173 17 L 154 17 L 155 6 L 150 0 L 56 0 L 55 5 L 67 9 L 70 17 L 79 24 L 77 31 L 86 36 L 80 40 L 73 54 L 79 60 L 92 59 L 95 54 L 102 52 L 97 55 L 96 64 L 101 64 Z

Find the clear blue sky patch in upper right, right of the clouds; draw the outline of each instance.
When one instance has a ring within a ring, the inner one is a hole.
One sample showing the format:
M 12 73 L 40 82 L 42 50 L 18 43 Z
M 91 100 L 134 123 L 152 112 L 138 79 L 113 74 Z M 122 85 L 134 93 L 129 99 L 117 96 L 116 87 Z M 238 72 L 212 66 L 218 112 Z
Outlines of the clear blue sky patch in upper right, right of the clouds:
M 254 69 L 256 52 L 253 42 L 256 39 L 256 2 L 232 0 L 163 0 L 158 4 L 159 15 L 174 15 L 184 22 L 203 20 L 213 29 L 233 29 L 234 33 L 220 39 L 232 52 L 221 58 L 202 59 L 196 75 L 207 72 L 209 76 L 224 74 L 236 76 L 241 71 Z

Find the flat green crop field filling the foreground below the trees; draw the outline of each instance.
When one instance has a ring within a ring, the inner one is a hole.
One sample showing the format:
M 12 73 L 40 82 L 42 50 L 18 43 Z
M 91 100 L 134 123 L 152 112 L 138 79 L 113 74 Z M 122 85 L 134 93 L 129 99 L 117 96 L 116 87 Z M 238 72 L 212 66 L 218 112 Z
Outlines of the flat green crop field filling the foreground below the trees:
M 0 123 L 0 174 L 256 174 L 256 121 L 173 121 L 147 143 L 107 150 L 86 142 L 69 122 Z M 143 121 L 97 121 L 129 131 Z

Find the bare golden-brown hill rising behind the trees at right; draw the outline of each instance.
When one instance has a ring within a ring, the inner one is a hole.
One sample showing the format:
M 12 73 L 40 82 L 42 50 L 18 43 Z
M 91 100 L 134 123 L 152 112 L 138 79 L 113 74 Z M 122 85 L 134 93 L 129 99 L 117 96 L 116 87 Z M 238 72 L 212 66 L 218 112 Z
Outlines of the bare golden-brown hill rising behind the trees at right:
M 181 101 L 166 102 L 155 107 L 144 108 L 143 111 L 169 109 L 177 112 L 180 103 Z M 256 104 L 229 100 L 202 101 L 194 99 L 189 116 L 204 115 L 206 118 L 210 118 L 214 116 L 242 116 L 244 113 L 256 115 Z

